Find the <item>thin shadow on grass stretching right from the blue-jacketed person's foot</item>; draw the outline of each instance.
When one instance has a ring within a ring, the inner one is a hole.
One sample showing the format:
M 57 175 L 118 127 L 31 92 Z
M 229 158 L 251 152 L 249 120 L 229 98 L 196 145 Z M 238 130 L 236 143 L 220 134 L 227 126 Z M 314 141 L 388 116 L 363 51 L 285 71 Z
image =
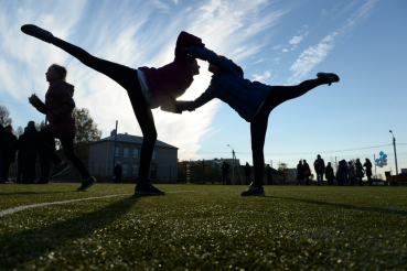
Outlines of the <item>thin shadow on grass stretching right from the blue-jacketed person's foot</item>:
M 374 207 L 365 207 L 365 206 L 354 206 L 354 205 L 349 205 L 349 204 L 326 203 L 326 202 L 321 202 L 321 200 L 294 198 L 294 197 L 279 197 L 279 196 L 265 196 L 265 197 L 294 200 L 294 202 L 302 202 L 302 203 L 309 203 L 309 204 L 315 204 L 315 205 L 332 206 L 332 207 L 346 208 L 346 209 L 376 212 L 376 213 L 381 213 L 381 214 L 384 214 L 384 215 L 393 214 L 393 215 L 399 215 L 399 216 L 407 216 L 407 210 L 384 209 L 384 208 L 374 208 Z

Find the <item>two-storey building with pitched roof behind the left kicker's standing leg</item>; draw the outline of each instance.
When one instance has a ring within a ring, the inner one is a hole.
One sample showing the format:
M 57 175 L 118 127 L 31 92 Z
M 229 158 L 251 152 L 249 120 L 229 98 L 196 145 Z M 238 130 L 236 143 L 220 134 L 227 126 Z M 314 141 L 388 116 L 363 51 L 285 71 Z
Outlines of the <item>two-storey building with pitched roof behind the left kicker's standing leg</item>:
M 116 130 L 110 137 L 89 144 L 88 169 L 98 181 L 110 182 L 114 166 Z M 120 162 L 124 183 L 136 183 L 141 151 L 142 137 L 127 133 L 117 134 L 115 164 Z M 157 140 L 150 166 L 153 183 L 176 183 L 178 148 Z

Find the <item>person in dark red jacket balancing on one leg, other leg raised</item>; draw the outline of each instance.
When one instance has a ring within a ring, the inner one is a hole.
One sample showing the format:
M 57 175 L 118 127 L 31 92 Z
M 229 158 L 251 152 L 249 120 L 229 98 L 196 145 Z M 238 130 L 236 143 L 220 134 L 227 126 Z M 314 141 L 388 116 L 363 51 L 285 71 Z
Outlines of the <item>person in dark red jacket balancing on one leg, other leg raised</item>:
M 173 62 L 159 68 L 139 67 L 133 69 L 97 58 L 36 25 L 25 24 L 21 26 L 21 31 L 64 50 L 86 66 L 110 77 L 127 90 L 143 134 L 139 180 L 135 194 L 165 195 L 164 192 L 154 187 L 148 178 L 157 141 L 151 109 L 161 107 L 161 110 L 181 113 L 178 111 L 175 99 L 185 93 L 193 82 L 193 76 L 200 73 L 196 59 L 189 56 L 184 48 L 189 46 L 204 47 L 201 39 L 182 31 L 176 40 Z

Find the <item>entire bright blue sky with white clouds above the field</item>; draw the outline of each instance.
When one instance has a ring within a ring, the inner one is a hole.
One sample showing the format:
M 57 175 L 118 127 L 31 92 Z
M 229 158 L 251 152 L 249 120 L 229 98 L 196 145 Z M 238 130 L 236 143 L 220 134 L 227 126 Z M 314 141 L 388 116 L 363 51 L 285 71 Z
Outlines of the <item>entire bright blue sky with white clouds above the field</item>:
M 41 0 L 0 1 L 0 105 L 14 128 L 43 116 L 28 102 L 44 97 L 52 63 L 68 69 L 75 101 L 88 108 L 103 137 L 119 121 L 119 132 L 141 136 L 126 91 L 62 50 L 23 34 L 36 24 L 89 53 L 130 67 L 162 66 L 173 59 L 184 30 L 240 65 L 245 77 L 268 85 L 293 85 L 333 72 L 339 84 L 318 87 L 276 108 L 269 118 L 265 158 L 296 167 L 299 159 L 325 162 L 384 151 L 395 173 L 407 169 L 406 83 L 407 1 L 405 0 Z M 201 75 L 181 99 L 206 89 Z M 136 79 L 136 78 L 135 78 Z M 153 110 L 159 140 L 180 148 L 179 158 L 231 158 L 251 164 L 249 123 L 228 105 L 213 100 L 180 116 Z M 371 148 L 377 147 L 377 148 Z M 350 151 L 352 150 L 352 151 Z

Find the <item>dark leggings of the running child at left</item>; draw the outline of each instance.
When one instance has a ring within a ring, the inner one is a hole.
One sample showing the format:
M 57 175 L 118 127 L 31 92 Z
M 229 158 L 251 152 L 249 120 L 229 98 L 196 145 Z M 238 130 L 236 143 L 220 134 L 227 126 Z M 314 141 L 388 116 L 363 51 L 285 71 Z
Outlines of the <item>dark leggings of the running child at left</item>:
M 54 149 L 47 144 L 54 139 L 54 134 L 49 129 L 42 129 L 32 139 L 32 143 L 36 147 L 40 155 L 47 155 L 54 165 L 57 165 L 62 160 L 56 155 Z M 71 161 L 75 169 L 81 173 L 83 178 L 90 177 L 89 172 L 86 170 L 84 163 L 76 156 L 74 151 L 74 139 L 72 138 L 60 138 L 62 148 L 64 149 L 65 156 Z

